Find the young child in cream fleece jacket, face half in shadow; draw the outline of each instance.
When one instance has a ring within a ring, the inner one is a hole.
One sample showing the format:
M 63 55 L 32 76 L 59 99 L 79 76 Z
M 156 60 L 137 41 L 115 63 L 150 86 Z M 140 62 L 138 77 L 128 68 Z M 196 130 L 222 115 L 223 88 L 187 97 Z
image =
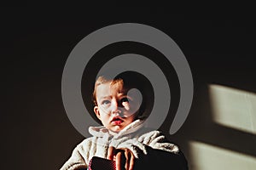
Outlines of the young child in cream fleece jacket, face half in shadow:
M 169 143 L 160 131 L 143 127 L 143 116 L 147 116 L 145 99 L 140 102 L 136 93 L 128 92 L 137 88 L 136 84 L 142 88 L 143 83 L 127 80 L 131 77 L 96 80 L 94 112 L 103 126 L 89 128 L 92 137 L 77 145 L 61 170 L 86 169 L 93 156 L 115 161 L 117 170 L 188 169 L 175 144 Z

